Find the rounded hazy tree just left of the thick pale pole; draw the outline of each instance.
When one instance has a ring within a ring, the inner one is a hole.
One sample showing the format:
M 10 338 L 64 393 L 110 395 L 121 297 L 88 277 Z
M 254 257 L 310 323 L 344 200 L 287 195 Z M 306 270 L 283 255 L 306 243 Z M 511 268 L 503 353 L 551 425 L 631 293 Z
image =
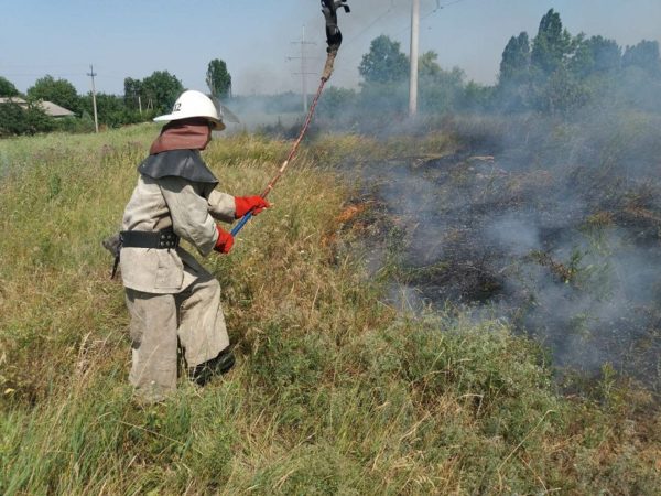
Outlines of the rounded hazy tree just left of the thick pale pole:
M 400 43 L 381 35 L 372 40 L 358 72 L 368 84 L 401 83 L 409 76 L 409 57 L 400 51 Z

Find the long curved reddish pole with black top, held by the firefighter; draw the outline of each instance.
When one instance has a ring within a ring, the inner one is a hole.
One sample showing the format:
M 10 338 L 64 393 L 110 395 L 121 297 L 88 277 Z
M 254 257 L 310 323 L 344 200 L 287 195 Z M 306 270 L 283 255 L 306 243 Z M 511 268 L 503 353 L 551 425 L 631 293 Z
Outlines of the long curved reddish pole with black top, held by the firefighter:
M 310 123 L 312 122 L 312 118 L 314 116 L 314 110 L 316 109 L 317 103 L 319 101 L 319 97 L 322 96 L 324 86 L 326 85 L 328 79 L 330 79 L 330 75 L 333 74 L 333 65 L 335 64 L 335 57 L 337 56 L 337 51 L 339 50 L 339 45 L 342 44 L 342 33 L 339 32 L 339 29 L 337 28 L 337 13 L 336 12 L 337 12 L 337 8 L 339 8 L 339 7 L 344 8 L 345 12 L 350 12 L 349 6 L 346 4 L 346 1 L 347 0 L 322 0 L 322 12 L 324 12 L 324 17 L 326 18 L 326 37 L 327 37 L 327 42 L 328 42 L 328 56 L 326 57 L 326 65 L 324 66 L 324 72 L 322 74 L 322 80 L 319 83 L 319 87 L 314 97 L 314 100 L 312 101 L 312 105 L 310 107 L 310 111 L 307 112 L 307 117 L 305 118 L 305 122 L 303 123 L 303 127 L 301 128 L 299 138 L 296 138 L 296 141 L 294 141 L 294 144 L 292 145 L 292 149 L 291 149 L 286 160 L 282 163 L 282 165 L 281 165 L 280 170 L 278 171 L 278 173 L 275 174 L 275 176 L 273 176 L 271 182 L 267 185 L 267 187 L 260 195 L 262 198 L 266 198 L 269 195 L 269 193 L 271 193 L 271 190 L 273 190 L 273 187 L 275 186 L 278 181 L 280 181 L 280 179 L 284 174 L 284 171 L 286 170 L 289 164 L 292 162 L 292 160 L 296 155 L 296 152 L 299 151 L 299 147 L 301 145 L 303 138 L 305 138 L 305 133 L 307 132 L 307 129 L 310 128 Z M 239 234 L 239 231 L 243 228 L 243 226 L 248 223 L 248 220 L 250 220 L 251 217 L 252 217 L 252 212 L 249 212 L 243 217 L 241 217 L 239 223 L 231 229 L 231 235 L 234 237 L 236 237 Z

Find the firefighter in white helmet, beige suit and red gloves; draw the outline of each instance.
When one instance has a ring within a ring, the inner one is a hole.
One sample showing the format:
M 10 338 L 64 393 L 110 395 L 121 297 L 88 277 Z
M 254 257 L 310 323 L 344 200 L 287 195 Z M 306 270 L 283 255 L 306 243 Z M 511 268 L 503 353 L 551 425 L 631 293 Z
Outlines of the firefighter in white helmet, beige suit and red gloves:
M 167 123 L 138 168 L 138 185 L 123 214 L 119 258 L 131 316 L 129 380 L 147 401 L 160 401 L 176 388 L 180 347 L 189 378 L 199 385 L 235 364 L 220 285 L 180 240 L 203 257 L 214 250 L 228 254 L 234 238 L 215 220 L 231 223 L 270 206 L 260 196 L 216 190 L 218 180 L 199 152 L 212 131 L 225 125 L 206 95 L 184 91 L 171 114 L 154 120 Z

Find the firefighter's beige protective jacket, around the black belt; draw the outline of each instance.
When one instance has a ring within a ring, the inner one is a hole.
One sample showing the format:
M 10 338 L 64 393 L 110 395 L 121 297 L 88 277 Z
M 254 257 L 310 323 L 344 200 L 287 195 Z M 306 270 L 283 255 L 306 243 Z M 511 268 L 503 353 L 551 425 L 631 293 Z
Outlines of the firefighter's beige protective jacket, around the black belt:
M 122 222 L 122 230 L 158 231 L 172 227 L 202 256 L 216 245 L 214 219 L 232 222 L 232 195 L 214 190 L 215 184 L 184 177 L 152 179 L 140 175 Z M 120 268 L 123 285 L 147 293 L 178 293 L 192 284 L 205 269 L 183 248 L 122 248 Z

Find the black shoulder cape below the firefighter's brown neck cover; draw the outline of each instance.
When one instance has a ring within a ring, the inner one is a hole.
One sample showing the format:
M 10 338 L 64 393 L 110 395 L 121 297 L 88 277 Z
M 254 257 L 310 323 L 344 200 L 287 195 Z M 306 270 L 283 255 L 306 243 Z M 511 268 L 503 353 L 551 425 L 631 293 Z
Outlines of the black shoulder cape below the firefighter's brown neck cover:
M 218 184 L 197 150 L 171 150 L 149 155 L 138 166 L 138 172 L 152 179 L 177 176 L 196 183 Z

